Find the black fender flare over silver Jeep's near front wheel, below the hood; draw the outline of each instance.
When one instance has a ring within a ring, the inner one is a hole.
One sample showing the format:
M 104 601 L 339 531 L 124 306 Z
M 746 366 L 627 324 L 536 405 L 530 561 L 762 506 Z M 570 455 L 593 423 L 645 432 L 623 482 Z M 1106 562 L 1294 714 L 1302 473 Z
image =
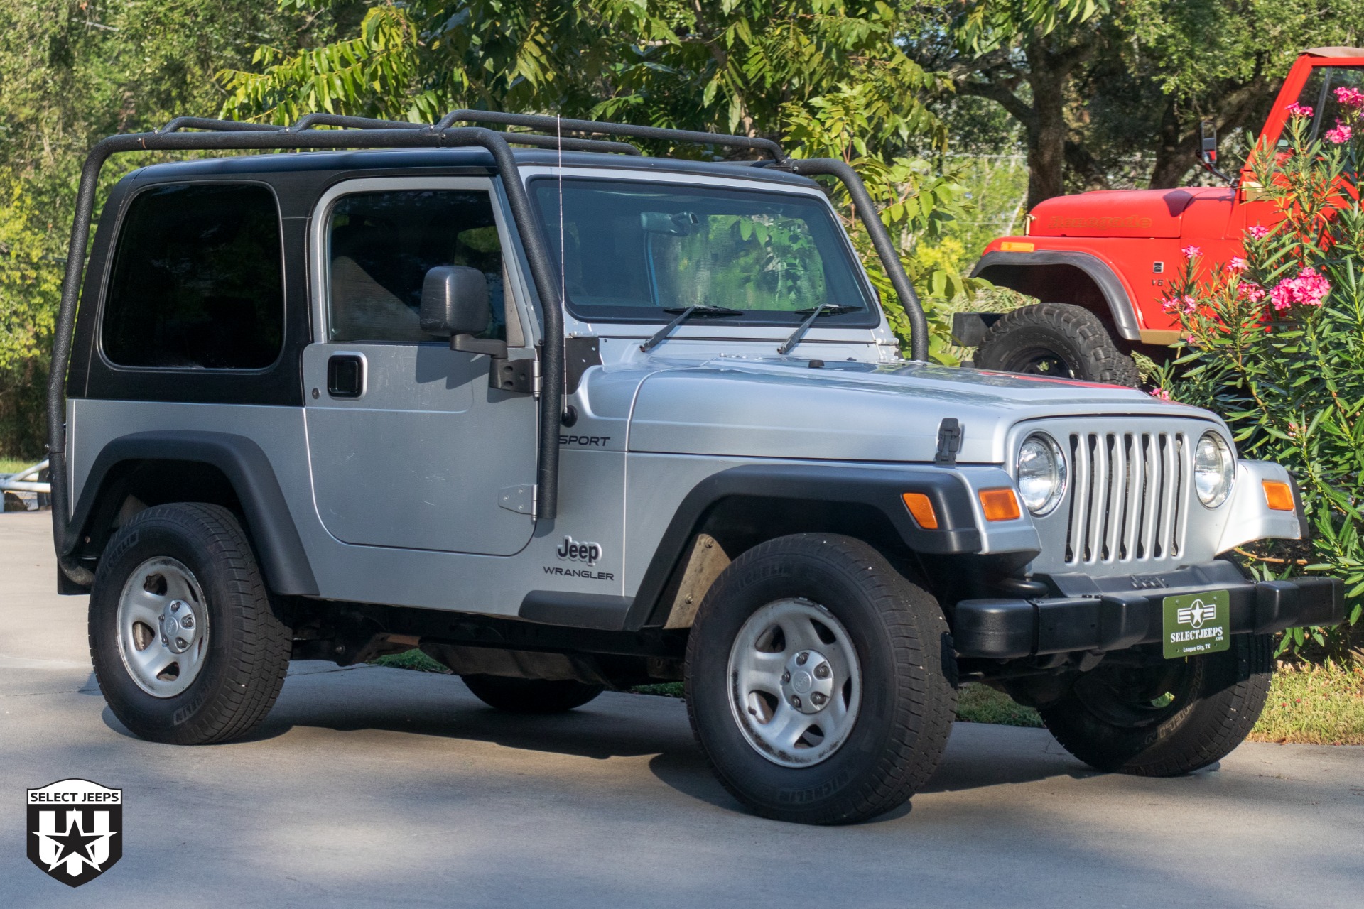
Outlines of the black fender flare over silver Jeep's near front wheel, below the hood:
M 902 496 L 921 492 L 933 503 L 938 527 L 925 530 L 910 515 Z M 670 604 L 663 602 L 668 579 L 687 553 L 687 542 L 720 502 L 743 497 L 870 506 L 884 514 L 904 544 L 925 555 L 979 552 L 983 540 L 975 525 L 971 492 L 951 470 L 930 466 L 899 469 L 833 465 L 743 465 L 711 474 L 682 499 L 640 582 L 626 630 L 662 626 Z M 663 615 L 660 615 L 660 612 Z

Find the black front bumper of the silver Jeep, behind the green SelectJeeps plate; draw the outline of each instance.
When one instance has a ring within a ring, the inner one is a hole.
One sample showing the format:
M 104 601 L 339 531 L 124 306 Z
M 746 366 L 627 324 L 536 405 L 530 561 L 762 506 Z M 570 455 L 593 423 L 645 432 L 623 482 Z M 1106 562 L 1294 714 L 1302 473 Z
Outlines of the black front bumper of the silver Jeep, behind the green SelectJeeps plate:
M 1226 590 L 1232 634 L 1273 634 L 1345 621 L 1345 586 L 1335 578 L 1247 581 L 1229 561 L 1159 575 L 1052 575 L 1063 596 L 962 600 L 949 611 L 962 657 L 1011 660 L 1052 653 L 1125 650 L 1163 636 L 1165 597 Z

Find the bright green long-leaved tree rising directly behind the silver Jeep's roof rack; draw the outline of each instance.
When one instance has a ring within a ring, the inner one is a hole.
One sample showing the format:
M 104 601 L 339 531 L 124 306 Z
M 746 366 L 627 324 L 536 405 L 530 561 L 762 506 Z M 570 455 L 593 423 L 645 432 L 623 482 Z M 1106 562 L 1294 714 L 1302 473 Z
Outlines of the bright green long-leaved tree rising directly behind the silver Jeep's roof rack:
M 917 283 L 945 297 L 960 292 L 960 275 L 943 260 L 915 262 L 913 251 L 952 217 L 959 188 L 907 154 L 941 146 L 943 125 L 923 98 L 945 84 L 903 52 L 898 29 L 893 7 L 865 0 L 473 0 L 454 15 L 434 0 L 375 3 L 356 33 L 330 45 L 263 46 L 259 71 L 224 72 L 224 114 L 288 123 L 319 109 L 430 123 L 469 106 L 776 138 L 795 154 L 854 164 Z M 888 309 L 907 338 L 904 313 Z M 945 326 L 934 338 L 945 357 Z

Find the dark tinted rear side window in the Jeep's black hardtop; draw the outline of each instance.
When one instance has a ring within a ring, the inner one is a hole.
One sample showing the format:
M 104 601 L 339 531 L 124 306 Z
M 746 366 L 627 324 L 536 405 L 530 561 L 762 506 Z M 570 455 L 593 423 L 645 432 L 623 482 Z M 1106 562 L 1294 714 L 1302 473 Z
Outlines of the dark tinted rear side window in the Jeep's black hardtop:
M 124 367 L 262 369 L 282 343 L 274 195 L 203 183 L 139 194 L 105 294 L 105 356 Z

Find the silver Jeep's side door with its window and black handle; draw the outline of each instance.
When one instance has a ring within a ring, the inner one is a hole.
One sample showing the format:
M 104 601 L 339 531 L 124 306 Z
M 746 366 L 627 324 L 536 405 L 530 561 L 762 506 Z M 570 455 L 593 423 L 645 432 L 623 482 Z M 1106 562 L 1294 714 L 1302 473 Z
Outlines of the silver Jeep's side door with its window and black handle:
M 480 337 L 524 343 L 491 180 L 348 181 L 311 236 L 325 339 L 304 350 L 303 379 L 322 525 L 356 545 L 518 552 L 535 527 L 535 398 L 490 388 L 487 356 L 419 324 L 426 273 L 471 266 L 488 281 Z

